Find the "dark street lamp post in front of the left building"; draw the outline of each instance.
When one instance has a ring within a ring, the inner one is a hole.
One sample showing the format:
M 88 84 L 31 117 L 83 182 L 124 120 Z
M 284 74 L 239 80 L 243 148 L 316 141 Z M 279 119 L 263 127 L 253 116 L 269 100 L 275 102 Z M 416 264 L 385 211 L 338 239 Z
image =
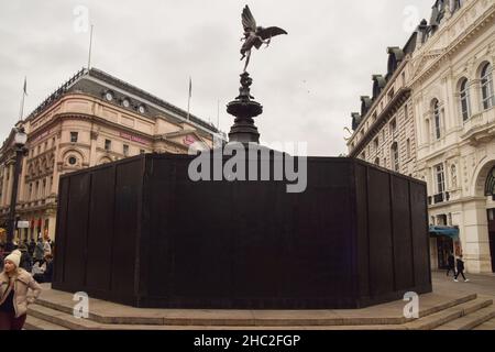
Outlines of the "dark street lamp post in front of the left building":
M 15 148 L 15 166 L 12 185 L 12 197 L 10 198 L 10 215 L 7 227 L 7 252 L 13 251 L 13 234 L 15 230 L 15 206 L 18 202 L 19 174 L 21 172 L 21 160 L 24 154 L 24 145 L 28 142 L 28 134 L 24 128 L 14 128 L 14 148 Z

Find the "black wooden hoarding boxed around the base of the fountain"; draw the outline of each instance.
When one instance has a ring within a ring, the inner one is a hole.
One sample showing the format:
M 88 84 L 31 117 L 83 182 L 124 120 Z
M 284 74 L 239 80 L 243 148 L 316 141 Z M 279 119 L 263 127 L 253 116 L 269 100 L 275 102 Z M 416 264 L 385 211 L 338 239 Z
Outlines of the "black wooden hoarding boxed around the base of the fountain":
M 64 175 L 53 287 L 156 308 L 360 308 L 431 292 L 426 184 L 309 157 L 307 188 L 193 182 L 194 156 Z M 272 160 L 272 166 L 274 165 Z

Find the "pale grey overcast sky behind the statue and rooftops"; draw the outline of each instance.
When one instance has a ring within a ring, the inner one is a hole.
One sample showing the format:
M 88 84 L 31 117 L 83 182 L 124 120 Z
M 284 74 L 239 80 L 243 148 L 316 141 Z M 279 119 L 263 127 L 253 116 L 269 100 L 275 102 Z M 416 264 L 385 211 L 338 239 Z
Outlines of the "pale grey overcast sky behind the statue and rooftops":
M 308 142 L 310 155 L 346 152 L 344 127 L 371 95 L 372 74 L 385 74 L 387 46 L 403 47 L 413 24 L 429 20 L 433 0 L 15 0 L 0 6 L 0 138 L 87 65 L 187 109 L 228 132 L 226 105 L 238 95 L 243 63 L 241 12 L 289 35 L 253 51 L 252 95 L 264 107 L 262 141 Z M 76 30 L 78 29 L 78 30 Z M 82 30 L 82 31 L 81 31 Z

